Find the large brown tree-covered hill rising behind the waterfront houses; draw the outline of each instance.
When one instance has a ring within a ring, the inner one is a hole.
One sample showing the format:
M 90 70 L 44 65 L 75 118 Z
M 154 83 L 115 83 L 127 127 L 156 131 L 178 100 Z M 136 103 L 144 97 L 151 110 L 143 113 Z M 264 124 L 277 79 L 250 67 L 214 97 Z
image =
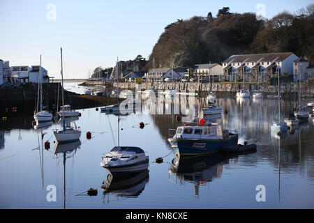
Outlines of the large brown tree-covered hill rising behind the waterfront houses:
M 192 67 L 220 63 L 232 54 L 294 52 L 314 61 L 314 4 L 292 14 L 279 13 L 271 20 L 257 20 L 255 13 L 218 10 L 216 17 L 192 17 L 165 27 L 144 67 Z

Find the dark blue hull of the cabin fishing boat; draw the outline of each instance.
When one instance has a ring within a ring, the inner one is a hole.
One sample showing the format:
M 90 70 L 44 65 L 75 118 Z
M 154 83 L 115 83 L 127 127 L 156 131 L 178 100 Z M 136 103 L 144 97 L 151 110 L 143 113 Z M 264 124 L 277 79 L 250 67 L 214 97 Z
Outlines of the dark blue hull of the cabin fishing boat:
M 202 155 L 216 153 L 225 146 L 234 146 L 238 144 L 238 134 L 230 134 L 228 139 L 211 140 L 186 140 L 177 139 L 175 150 L 179 155 Z

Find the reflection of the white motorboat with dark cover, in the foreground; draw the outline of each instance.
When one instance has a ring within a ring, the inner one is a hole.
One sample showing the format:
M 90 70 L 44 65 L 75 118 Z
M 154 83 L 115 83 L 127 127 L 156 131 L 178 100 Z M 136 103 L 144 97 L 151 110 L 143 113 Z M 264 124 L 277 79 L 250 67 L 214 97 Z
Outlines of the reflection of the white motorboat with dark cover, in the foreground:
M 135 198 L 140 196 L 145 189 L 145 185 L 149 182 L 149 170 L 138 172 L 136 174 L 126 174 L 113 176 L 108 174 L 103 181 L 101 189 L 103 190 L 103 202 L 107 194 L 107 203 L 109 202 L 109 194 L 121 198 Z

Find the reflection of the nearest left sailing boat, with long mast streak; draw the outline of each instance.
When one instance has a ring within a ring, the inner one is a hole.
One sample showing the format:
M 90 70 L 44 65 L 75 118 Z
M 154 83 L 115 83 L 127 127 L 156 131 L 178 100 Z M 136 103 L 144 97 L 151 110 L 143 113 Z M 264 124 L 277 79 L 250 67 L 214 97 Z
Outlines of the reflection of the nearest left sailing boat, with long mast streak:
M 66 209 L 66 159 L 73 157 L 76 153 L 77 148 L 80 148 L 81 141 L 73 141 L 70 143 L 59 144 L 56 143 L 54 146 L 54 155 L 57 159 L 59 155 L 63 156 L 63 209 Z M 59 162 L 58 162 L 59 164 Z M 57 165 L 58 168 L 59 165 Z M 59 173 L 59 171 L 57 171 Z

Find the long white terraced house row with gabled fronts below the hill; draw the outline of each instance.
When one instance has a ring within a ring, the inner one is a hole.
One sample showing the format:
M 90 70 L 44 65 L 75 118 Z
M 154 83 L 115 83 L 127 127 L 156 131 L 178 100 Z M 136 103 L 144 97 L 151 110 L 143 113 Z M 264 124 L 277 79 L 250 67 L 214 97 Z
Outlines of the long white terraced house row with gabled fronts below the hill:
M 223 78 L 228 82 L 268 82 L 271 77 L 293 74 L 292 52 L 232 55 L 223 61 Z

